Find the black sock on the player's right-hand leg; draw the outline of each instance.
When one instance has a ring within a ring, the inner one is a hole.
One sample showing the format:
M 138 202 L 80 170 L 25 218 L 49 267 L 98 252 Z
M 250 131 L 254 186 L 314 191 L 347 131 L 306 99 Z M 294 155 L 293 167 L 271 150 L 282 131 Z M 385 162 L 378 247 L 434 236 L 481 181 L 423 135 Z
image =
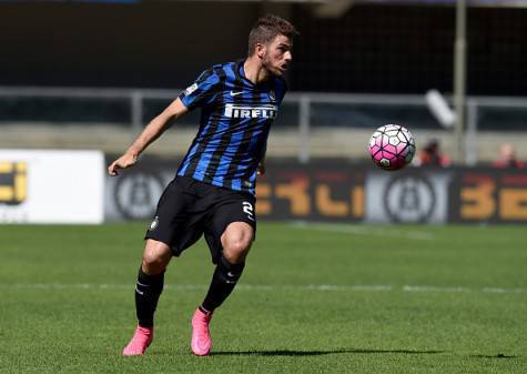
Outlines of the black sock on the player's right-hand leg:
M 231 264 L 222 255 L 212 275 L 211 285 L 205 300 L 201 304 L 201 310 L 212 312 L 220 306 L 236 286 L 236 282 L 242 275 L 245 263 Z

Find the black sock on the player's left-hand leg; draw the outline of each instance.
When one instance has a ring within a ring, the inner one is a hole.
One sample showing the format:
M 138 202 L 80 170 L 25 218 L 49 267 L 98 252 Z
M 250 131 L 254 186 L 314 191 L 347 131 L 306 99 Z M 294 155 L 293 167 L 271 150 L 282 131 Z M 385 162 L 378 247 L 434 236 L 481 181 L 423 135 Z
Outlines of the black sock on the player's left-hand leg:
M 148 275 L 139 267 L 138 284 L 135 285 L 135 312 L 141 327 L 154 325 L 154 312 L 158 300 L 163 291 L 164 272 Z

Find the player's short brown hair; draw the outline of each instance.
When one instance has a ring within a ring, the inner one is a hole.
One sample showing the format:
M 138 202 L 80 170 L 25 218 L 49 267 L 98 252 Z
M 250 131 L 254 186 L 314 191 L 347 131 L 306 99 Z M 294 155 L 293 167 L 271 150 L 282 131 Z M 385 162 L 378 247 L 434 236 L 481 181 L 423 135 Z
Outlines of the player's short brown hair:
M 277 36 L 293 39 L 298 36 L 298 31 L 290 21 L 278 16 L 266 14 L 261 17 L 249 33 L 249 55 L 254 54 L 257 43 L 266 44 Z

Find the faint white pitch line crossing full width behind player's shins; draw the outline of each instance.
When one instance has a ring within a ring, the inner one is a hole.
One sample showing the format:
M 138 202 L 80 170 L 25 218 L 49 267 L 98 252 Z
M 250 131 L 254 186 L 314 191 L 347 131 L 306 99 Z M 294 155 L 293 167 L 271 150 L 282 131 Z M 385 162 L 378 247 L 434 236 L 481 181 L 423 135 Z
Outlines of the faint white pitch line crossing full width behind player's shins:
M 168 290 L 206 290 L 206 284 L 168 284 Z M 0 290 L 133 290 L 133 284 L 94 284 L 94 283 L 1 283 Z M 527 294 L 527 289 L 434 285 L 386 285 L 386 284 L 239 284 L 240 291 L 348 291 L 348 292 L 408 292 L 408 293 L 491 293 Z

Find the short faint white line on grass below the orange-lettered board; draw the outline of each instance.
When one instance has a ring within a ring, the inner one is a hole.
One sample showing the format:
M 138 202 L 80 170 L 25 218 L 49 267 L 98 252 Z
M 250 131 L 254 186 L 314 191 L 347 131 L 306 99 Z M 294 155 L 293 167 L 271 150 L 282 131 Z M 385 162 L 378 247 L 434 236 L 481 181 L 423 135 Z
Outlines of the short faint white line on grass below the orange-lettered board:
M 293 222 L 290 226 L 301 230 L 316 230 L 326 232 L 338 232 L 343 234 L 356 234 L 366 236 L 392 236 L 403 237 L 412 240 L 433 240 L 434 235 L 426 231 L 405 230 L 403 228 L 397 230 L 391 229 L 374 229 L 361 225 L 345 225 L 336 223 L 307 223 L 307 222 Z

